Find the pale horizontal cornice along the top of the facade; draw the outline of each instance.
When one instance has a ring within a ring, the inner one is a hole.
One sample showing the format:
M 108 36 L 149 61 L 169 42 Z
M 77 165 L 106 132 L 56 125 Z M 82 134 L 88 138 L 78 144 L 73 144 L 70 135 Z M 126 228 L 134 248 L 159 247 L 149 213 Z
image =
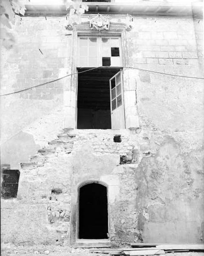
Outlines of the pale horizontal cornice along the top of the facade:
M 124 0 L 125 2 L 125 0 Z M 130 14 L 130 15 L 154 15 L 154 16 L 202 16 L 202 2 L 197 3 L 164 3 L 140 1 L 137 3 L 97 3 L 86 2 L 89 6 L 88 12 L 85 14 Z M 65 5 L 43 5 L 43 4 L 26 4 L 26 15 L 65 15 Z M 193 11 L 193 13 L 192 13 Z

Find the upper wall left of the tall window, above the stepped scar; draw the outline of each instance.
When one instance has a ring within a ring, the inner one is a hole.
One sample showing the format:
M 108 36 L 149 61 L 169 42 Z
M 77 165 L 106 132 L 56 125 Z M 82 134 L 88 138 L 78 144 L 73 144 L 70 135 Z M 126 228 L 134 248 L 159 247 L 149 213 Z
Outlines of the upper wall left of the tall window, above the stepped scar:
M 15 48 L 9 51 L 2 48 L 1 94 L 23 90 L 69 73 L 71 41 L 65 35 L 65 21 L 65 17 L 22 17 L 15 26 Z M 9 162 L 11 168 L 19 168 L 20 161 L 28 159 L 36 148 L 52 139 L 50 133 L 54 131 L 57 136 L 56 131 L 63 124 L 63 87 L 67 81 L 65 78 L 1 97 L 3 163 Z M 22 132 L 26 136 L 24 140 L 20 139 L 24 143 L 20 143 L 19 154 L 16 154 L 8 144 L 19 142 Z M 23 144 L 31 149 L 28 151 Z

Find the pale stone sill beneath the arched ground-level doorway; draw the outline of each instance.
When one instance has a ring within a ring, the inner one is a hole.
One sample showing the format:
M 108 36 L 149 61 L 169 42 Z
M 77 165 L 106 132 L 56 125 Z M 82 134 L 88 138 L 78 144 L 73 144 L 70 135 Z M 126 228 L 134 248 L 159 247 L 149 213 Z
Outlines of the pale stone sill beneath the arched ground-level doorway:
M 75 248 L 111 247 L 109 239 L 77 239 Z

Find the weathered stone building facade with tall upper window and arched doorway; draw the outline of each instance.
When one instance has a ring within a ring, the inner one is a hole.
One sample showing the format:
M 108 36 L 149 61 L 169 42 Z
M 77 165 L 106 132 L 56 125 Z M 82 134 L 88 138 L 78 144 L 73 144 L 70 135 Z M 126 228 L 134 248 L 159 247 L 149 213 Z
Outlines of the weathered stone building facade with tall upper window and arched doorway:
M 2 52 L 2 241 L 202 242 L 201 5 L 93 2 L 28 4 Z

